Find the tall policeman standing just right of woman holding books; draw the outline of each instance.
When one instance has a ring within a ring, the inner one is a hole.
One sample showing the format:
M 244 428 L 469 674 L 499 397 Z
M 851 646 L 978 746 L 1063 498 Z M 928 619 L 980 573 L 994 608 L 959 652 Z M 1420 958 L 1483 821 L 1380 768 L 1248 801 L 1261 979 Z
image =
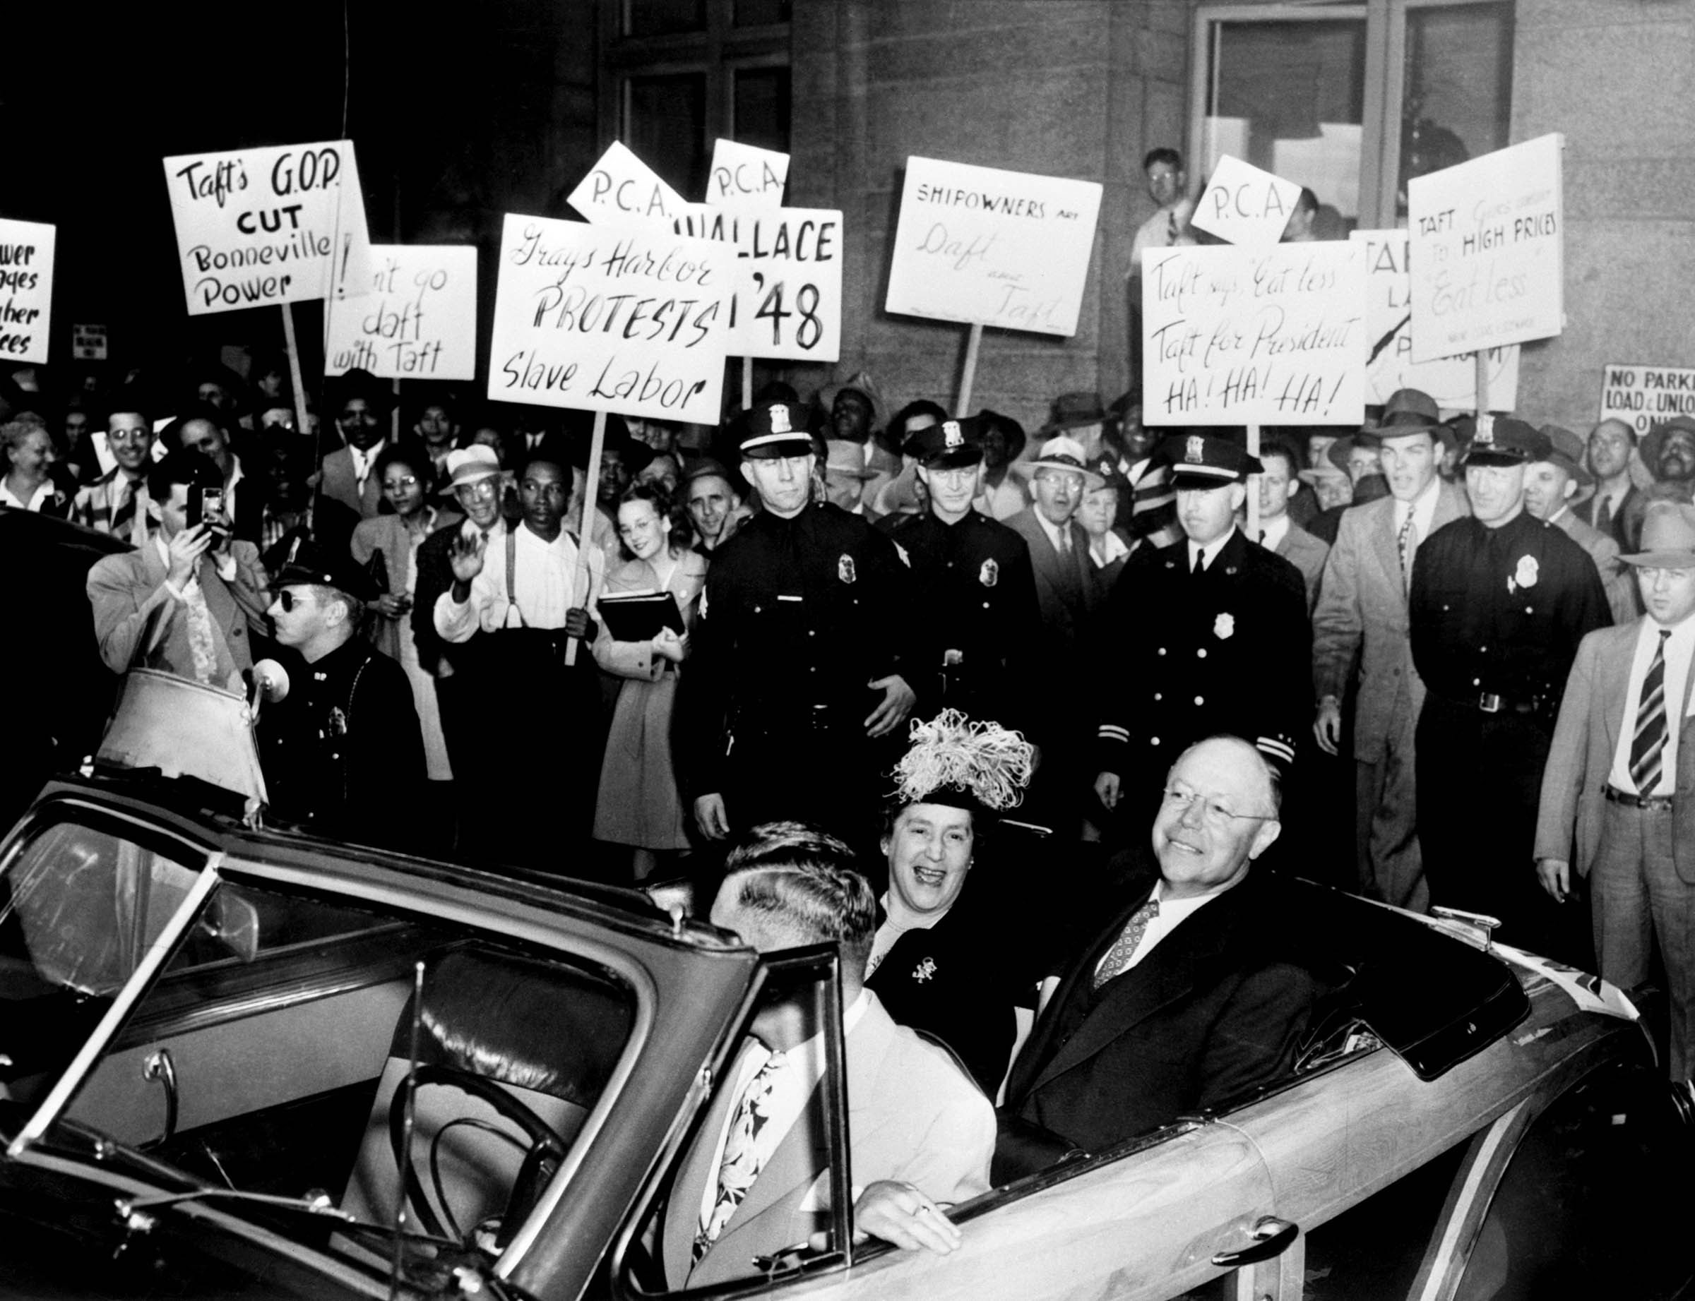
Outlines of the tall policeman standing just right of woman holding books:
M 805 818 L 870 845 L 878 772 L 915 700 L 907 567 L 863 518 L 812 501 L 800 407 L 749 408 L 741 452 L 764 508 L 707 571 L 678 688 L 680 783 L 712 840 Z

